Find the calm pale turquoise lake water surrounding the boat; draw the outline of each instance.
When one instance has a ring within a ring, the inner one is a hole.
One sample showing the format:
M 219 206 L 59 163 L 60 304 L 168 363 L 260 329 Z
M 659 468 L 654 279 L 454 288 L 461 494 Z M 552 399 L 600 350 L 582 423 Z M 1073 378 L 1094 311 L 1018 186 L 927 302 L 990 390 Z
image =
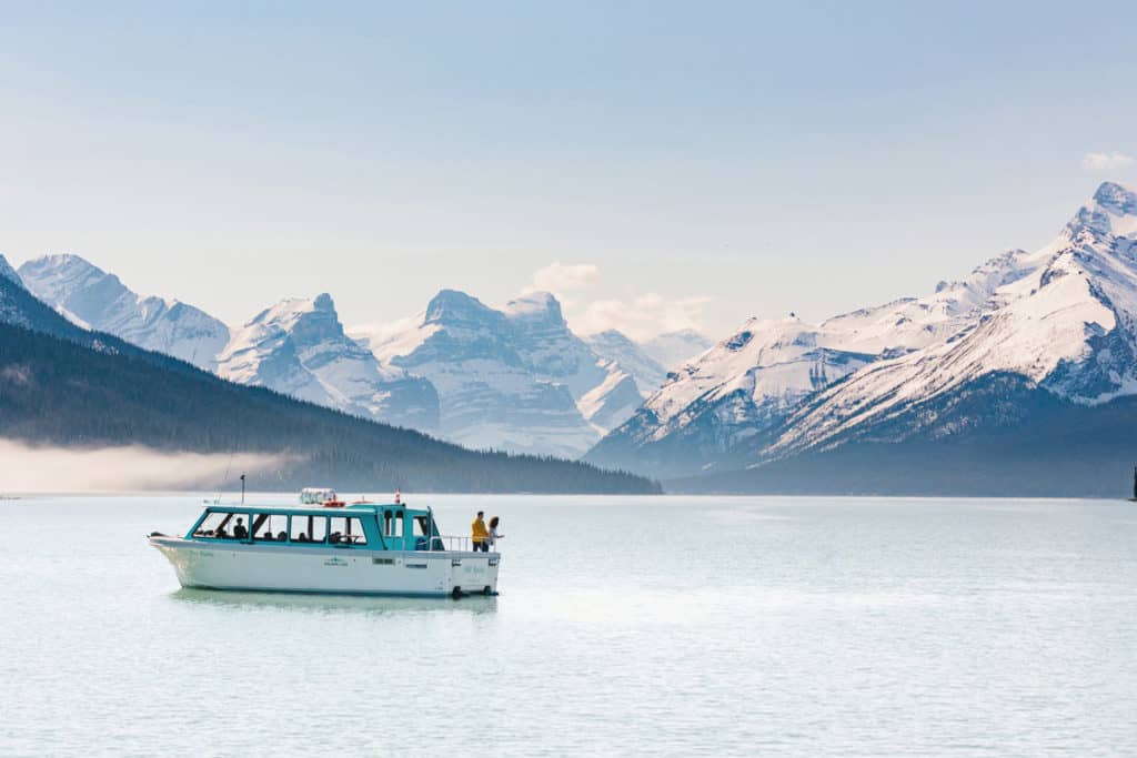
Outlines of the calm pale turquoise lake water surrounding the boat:
M 0 753 L 1137 753 L 1137 507 L 432 497 L 498 598 L 181 590 L 200 495 L 0 502 Z

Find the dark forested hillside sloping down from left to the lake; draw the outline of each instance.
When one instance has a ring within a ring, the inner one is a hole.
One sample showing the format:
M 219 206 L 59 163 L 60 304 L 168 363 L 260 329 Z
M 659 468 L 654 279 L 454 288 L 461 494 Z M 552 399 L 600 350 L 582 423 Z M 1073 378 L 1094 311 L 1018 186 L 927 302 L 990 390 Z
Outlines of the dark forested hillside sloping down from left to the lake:
M 0 436 L 67 447 L 142 444 L 290 456 L 290 463 L 257 474 L 252 484 L 258 489 L 334 482 L 351 490 L 659 491 L 657 483 L 628 473 L 551 457 L 466 450 L 233 384 L 168 356 L 78 330 L 48 310 L 34 314 L 38 332 L 0 324 Z

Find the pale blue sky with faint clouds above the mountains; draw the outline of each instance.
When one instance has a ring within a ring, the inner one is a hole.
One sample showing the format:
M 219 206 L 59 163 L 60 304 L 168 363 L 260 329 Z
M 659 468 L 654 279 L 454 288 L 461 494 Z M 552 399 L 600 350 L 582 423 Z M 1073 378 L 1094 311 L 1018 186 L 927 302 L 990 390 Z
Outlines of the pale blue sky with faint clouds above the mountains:
M 598 272 L 579 326 L 717 338 L 927 292 L 1137 180 L 1082 166 L 1137 157 L 1132 2 L 94 5 L 5 8 L 0 251 L 234 323 L 559 261 Z

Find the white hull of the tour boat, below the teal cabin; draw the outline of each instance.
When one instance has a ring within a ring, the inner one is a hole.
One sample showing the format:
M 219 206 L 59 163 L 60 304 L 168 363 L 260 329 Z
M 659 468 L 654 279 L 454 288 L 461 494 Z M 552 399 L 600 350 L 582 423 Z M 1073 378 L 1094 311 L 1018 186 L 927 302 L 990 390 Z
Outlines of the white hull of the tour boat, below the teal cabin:
M 495 552 L 296 548 L 151 536 L 185 588 L 329 594 L 497 594 Z

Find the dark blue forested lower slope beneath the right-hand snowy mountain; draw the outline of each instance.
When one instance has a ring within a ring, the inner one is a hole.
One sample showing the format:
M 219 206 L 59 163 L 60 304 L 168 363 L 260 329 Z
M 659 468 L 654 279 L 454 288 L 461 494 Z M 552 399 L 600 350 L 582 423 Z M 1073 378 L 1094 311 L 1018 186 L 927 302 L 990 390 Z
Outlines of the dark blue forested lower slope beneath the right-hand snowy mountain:
M 1013 374 L 966 383 L 927 408 L 956 434 L 863 440 L 758 466 L 665 482 L 669 492 L 955 497 L 1127 497 L 1137 398 L 1079 406 Z M 974 420 L 980 419 L 980 424 Z M 885 430 L 879 430 L 885 432 Z

